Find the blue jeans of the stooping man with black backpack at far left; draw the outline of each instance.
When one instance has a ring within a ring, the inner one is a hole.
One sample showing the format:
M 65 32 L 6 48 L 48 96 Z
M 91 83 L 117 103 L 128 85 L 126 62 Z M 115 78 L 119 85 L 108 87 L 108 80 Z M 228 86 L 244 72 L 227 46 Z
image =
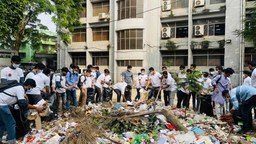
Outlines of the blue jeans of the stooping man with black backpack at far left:
M 0 106 L 0 142 L 2 141 L 5 128 L 9 144 L 15 143 L 15 120 L 8 106 Z

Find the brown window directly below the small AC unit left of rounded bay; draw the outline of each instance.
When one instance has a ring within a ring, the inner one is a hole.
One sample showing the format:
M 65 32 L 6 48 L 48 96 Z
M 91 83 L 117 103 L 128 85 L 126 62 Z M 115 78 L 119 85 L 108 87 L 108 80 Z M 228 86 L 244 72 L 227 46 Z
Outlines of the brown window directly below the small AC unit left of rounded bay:
M 109 41 L 109 27 L 93 28 L 93 41 Z

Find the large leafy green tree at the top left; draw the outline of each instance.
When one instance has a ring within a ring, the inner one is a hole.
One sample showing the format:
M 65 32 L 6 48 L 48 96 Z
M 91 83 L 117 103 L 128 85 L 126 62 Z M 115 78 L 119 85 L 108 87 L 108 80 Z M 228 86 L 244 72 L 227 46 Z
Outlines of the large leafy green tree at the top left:
M 0 1 L 0 48 L 19 51 L 22 42 L 31 42 L 38 50 L 41 40 L 50 36 L 40 32 L 48 30 L 38 15 L 54 14 L 51 18 L 57 27 L 69 32 L 58 31 L 61 41 L 71 43 L 71 33 L 81 26 L 79 14 L 84 11 L 83 0 L 1 0 Z

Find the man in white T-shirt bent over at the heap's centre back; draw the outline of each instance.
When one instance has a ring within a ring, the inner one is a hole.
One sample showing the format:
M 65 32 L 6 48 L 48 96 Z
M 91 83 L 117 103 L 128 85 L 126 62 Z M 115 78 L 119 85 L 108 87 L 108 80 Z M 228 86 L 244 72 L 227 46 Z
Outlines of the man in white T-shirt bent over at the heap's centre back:
M 113 86 L 113 90 L 117 95 L 117 102 L 120 102 L 121 95 L 123 96 L 123 102 L 127 102 L 125 98 L 125 91 L 131 90 L 130 85 L 128 85 L 126 82 L 118 82 Z

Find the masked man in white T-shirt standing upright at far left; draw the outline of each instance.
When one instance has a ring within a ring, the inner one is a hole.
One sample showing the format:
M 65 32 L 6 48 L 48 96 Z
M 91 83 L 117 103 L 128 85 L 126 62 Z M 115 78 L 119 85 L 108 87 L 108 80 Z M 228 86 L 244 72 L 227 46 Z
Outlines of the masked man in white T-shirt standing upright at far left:
M 21 59 L 18 55 L 13 55 L 11 58 L 11 65 L 1 70 L 1 82 L 8 80 L 17 80 L 20 84 L 24 83 L 24 74 L 19 68 Z

